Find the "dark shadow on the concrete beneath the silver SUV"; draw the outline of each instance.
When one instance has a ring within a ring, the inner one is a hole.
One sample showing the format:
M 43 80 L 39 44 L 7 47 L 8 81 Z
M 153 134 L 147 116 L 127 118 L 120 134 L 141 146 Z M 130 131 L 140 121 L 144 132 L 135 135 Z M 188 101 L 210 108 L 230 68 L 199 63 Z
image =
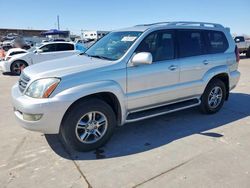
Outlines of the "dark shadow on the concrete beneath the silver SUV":
M 57 135 L 45 135 L 54 152 L 70 160 L 96 160 L 121 157 L 152 150 L 184 137 L 200 134 L 213 138 L 224 135 L 211 132 L 220 126 L 230 126 L 250 115 L 250 95 L 231 93 L 220 112 L 200 114 L 197 108 L 179 111 L 152 119 L 127 124 L 117 129 L 110 141 L 92 152 L 76 152 L 61 144 Z

